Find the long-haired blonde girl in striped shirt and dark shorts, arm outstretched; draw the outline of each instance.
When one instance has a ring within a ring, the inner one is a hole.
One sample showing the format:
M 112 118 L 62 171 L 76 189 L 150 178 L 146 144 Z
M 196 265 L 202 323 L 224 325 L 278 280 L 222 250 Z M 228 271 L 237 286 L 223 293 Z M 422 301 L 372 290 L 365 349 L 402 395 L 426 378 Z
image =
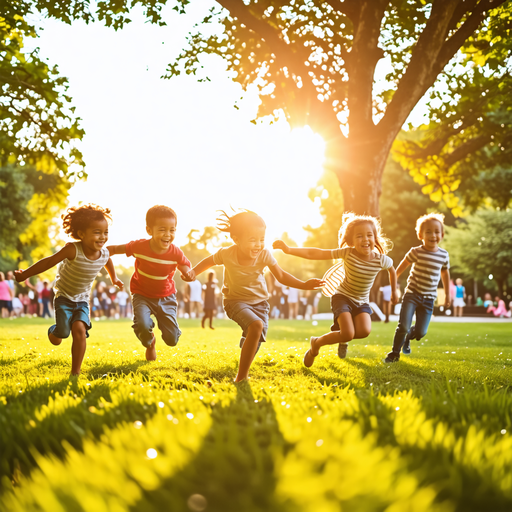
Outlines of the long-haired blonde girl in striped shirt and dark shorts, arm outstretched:
M 275 249 L 281 249 L 293 256 L 309 260 L 343 260 L 340 282 L 337 283 L 337 289 L 331 298 L 334 315 L 332 332 L 320 337 L 311 337 L 310 348 L 304 355 L 305 366 L 309 368 L 313 365 L 315 357 L 324 345 L 338 343 L 338 356 L 344 359 L 347 357 L 349 341 L 366 338 L 370 334 L 370 289 L 381 270 L 388 271 L 391 302 L 397 302 L 396 272 L 393 261 L 386 256 L 390 245 L 390 241 L 382 234 L 380 222 L 375 217 L 356 215 L 352 212 L 343 214 L 338 249 L 288 247 L 282 240 L 274 242 Z

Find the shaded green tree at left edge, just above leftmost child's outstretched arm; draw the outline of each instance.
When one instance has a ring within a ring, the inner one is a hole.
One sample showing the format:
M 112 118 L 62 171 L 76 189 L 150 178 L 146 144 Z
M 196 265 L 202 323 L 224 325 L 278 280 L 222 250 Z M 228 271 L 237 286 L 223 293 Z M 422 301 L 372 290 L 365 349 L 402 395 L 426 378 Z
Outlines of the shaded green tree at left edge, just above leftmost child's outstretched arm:
M 30 166 L 0 167 L 0 268 L 12 270 L 49 255 L 69 181 Z

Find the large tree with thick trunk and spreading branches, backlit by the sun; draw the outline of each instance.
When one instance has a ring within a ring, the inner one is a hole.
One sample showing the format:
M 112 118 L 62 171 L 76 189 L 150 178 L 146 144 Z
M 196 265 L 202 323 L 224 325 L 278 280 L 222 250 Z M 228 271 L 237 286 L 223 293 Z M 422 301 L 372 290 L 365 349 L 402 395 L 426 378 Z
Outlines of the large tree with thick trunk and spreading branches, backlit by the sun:
M 324 137 L 327 167 L 338 176 L 347 209 L 378 214 L 389 150 L 427 91 L 439 128 L 429 131 L 428 165 L 418 148 L 397 149 L 424 193 L 455 214 L 461 171 L 453 166 L 482 149 L 482 137 L 499 139 L 500 150 L 510 137 L 502 119 L 510 97 L 510 2 L 217 3 L 221 8 L 213 7 L 190 35 L 167 76 L 208 80 L 201 57 L 220 56 L 233 80 L 259 90 L 259 117 L 285 115 L 292 126 L 308 124 Z M 385 79 L 376 73 L 381 59 Z

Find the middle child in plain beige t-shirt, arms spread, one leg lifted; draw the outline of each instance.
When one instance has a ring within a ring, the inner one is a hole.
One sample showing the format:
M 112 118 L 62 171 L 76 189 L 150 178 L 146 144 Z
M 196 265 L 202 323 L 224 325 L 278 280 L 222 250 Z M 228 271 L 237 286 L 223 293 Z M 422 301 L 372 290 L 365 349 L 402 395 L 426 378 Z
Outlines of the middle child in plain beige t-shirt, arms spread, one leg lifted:
M 249 369 L 259 346 L 266 341 L 269 293 L 264 276 L 266 267 L 286 286 L 314 290 L 323 285 L 321 279 L 304 282 L 285 272 L 265 249 L 266 225 L 254 212 L 244 210 L 233 216 L 225 212 L 218 220 L 220 231 L 229 233 L 234 245 L 219 249 L 198 263 L 183 279 L 190 281 L 214 265 L 224 265 L 224 310 L 242 328 L 240 364 L 235 382 L 249 377 Z

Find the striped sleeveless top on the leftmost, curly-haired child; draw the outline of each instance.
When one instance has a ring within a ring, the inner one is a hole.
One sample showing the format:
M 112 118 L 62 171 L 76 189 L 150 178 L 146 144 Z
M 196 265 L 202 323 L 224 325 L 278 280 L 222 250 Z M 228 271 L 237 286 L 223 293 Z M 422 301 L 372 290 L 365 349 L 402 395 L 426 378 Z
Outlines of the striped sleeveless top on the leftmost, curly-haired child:
M 103 247 L 100 257 L 90 260 L 85 257 L 82 242 L 73 242 L 73 245 L 76 248 L 75 259 L 66 258 L 57 267 L 55 297 L 66 297 L 73 302 L 89 302 L 92 283 L 107 264 L 109 252 Z

